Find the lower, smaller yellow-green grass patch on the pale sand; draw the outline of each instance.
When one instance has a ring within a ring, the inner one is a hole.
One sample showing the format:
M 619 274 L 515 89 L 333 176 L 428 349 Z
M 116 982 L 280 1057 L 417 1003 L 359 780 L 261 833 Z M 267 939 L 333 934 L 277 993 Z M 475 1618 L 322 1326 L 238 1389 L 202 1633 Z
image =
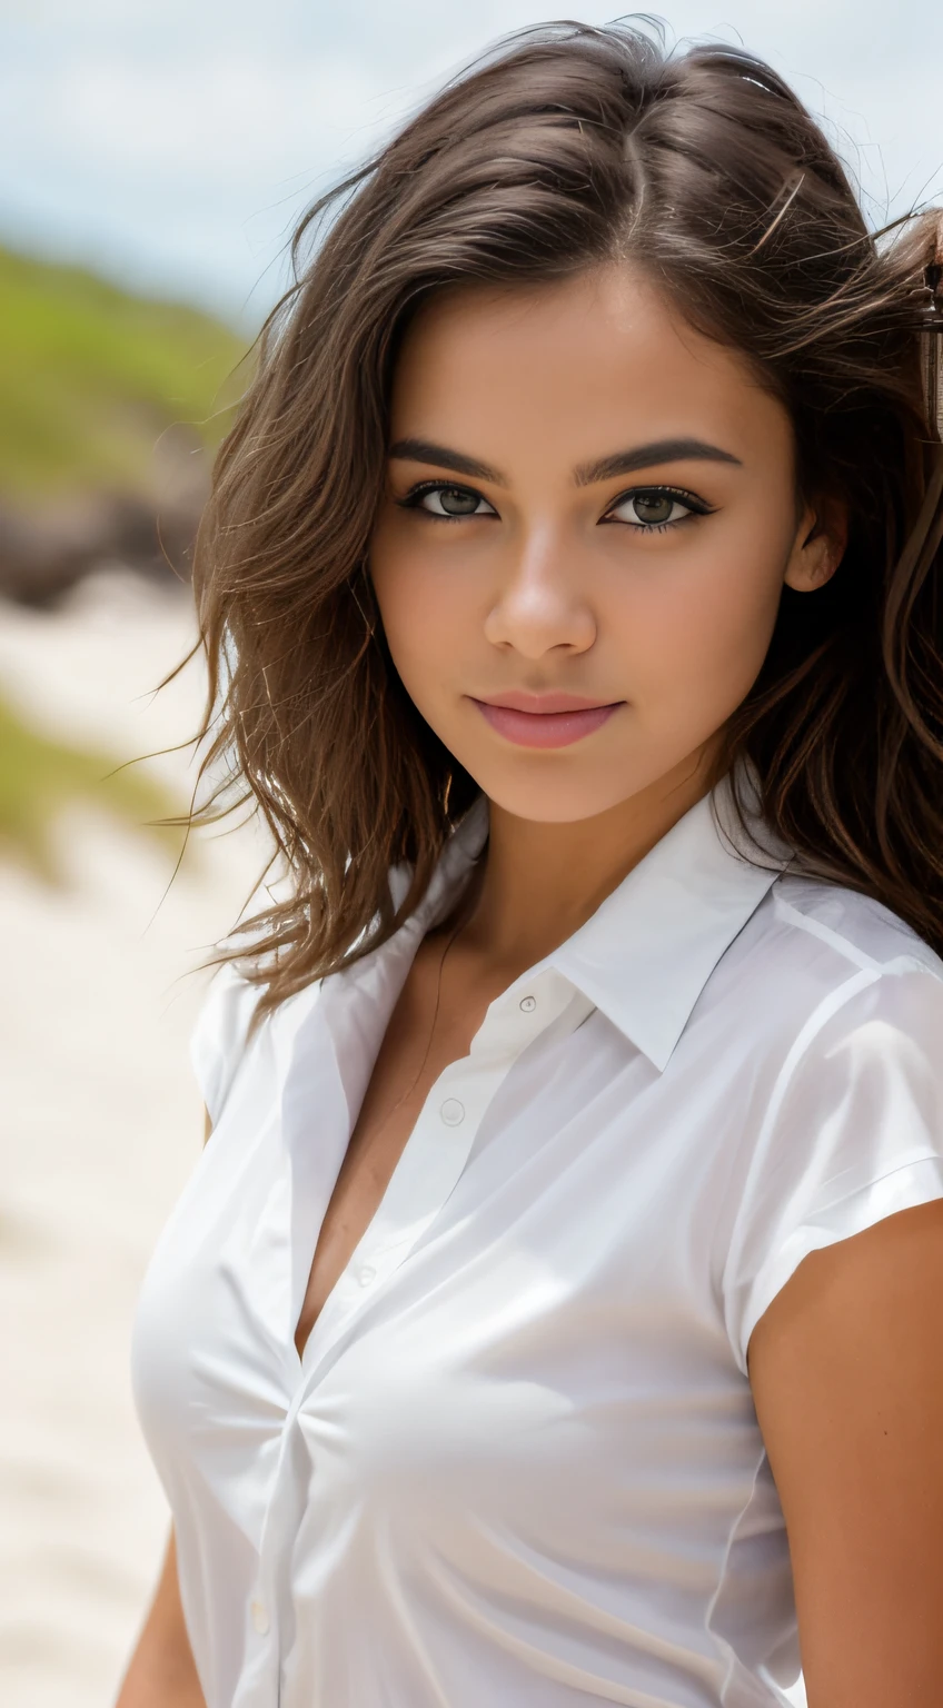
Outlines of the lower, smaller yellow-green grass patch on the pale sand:
M 62 881 L 51 828 L 62 808 L 73 801 L 145 830 L 171 857 L 183 845 L 179 827 L 155 822 L 178 810 L 159 784 L 135 767 L 116 770 L 116 762 L 104 753 L 38 734 L 0 699 L 0 857 L 12 856 L 38 876 Z

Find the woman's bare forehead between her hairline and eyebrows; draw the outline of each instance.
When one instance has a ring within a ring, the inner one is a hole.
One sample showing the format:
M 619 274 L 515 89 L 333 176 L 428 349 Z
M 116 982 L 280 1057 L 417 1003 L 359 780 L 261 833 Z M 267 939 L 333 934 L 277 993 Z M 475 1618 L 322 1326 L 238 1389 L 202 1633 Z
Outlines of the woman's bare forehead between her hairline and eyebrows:
M 444 290 L 417 314 L 396 364 L 396 437 L 434 430 L 468 447 L 470 434 L 487 434 L 494 451 L 495 436 L 524 430 L 594 451 L 682 427 L 731 449 L 757 432 L 789 439 L 747 357 L 699 333 L 625 263 L 536 287 Z

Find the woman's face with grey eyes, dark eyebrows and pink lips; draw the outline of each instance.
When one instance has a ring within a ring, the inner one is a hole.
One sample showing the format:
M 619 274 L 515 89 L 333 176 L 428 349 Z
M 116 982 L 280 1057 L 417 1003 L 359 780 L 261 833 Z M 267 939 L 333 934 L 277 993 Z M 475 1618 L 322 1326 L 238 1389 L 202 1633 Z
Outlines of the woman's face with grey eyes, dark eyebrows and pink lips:
M 837 555 L 786 410 L 627 266 L 412 325 L 371 574 L 407 692 L 506 811 L 589 818 L 697 767 L 782 582 Z

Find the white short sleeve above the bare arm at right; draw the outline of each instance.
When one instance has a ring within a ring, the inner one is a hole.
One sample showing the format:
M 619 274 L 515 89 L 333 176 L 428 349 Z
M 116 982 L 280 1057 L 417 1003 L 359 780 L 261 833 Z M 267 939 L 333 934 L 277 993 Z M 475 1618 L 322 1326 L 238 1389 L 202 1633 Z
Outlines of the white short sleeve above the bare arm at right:
M 909 963 L 851 984 L 796 1040 L 748 1160 L 723 1272 L 743 1375 L 803 1257 L 943 1197 L 943 979 Z

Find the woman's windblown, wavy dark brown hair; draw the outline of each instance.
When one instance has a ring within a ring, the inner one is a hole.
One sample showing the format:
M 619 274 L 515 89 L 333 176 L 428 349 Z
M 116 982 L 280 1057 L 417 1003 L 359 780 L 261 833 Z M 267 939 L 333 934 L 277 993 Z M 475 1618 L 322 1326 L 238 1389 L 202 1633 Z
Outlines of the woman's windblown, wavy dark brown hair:
M 716 775 L 752 760 L 803 868 L 943 951 L 943 453 L 919 331 L 941 231 L 931 212 L 870 232 L 762 60 L 571 22 L 499 44 L 309 210 L 195 550 L 203 769 L 229 765 L 195 822 L 236 779 L 290 874 L 222 946 L 248 956 L 260 1013 L 408 917 L 477 794 L 405 693 L 371 589 L 403 331 L 444 287 L 618 258 L 753 364 L 794 424 L 800 495 L 851 516 L 832 579 L 782 588 Z

